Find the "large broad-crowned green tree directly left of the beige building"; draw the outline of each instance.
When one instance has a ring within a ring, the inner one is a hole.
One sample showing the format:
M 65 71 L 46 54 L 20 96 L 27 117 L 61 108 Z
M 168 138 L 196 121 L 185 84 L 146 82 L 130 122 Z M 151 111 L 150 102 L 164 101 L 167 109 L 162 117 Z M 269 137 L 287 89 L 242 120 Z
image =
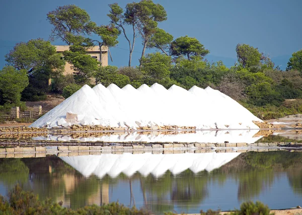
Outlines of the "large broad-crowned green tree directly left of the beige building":
M 55 47 L 43 39 L 17 43 L 6 61 L 18 70 L 26 70 L 29 84 L 22 92 L 22 100 L 31 101 L 46 98 L 48 79 L 61 74 L 65 64 Z

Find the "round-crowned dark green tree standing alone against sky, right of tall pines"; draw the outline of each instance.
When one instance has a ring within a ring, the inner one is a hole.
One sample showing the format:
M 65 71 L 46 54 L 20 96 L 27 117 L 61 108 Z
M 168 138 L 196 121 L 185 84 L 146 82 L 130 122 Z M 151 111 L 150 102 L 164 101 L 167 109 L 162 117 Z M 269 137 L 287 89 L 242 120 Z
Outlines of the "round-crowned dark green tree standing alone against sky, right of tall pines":
M 210 51 L 205 49 L 196 38 L 188 36 L 179 37 L 170 45 L 170 53 L 172 56 L 186 56 L 188 60 L 190 60 L 192 56 L 204 57 L 209 52 Z

